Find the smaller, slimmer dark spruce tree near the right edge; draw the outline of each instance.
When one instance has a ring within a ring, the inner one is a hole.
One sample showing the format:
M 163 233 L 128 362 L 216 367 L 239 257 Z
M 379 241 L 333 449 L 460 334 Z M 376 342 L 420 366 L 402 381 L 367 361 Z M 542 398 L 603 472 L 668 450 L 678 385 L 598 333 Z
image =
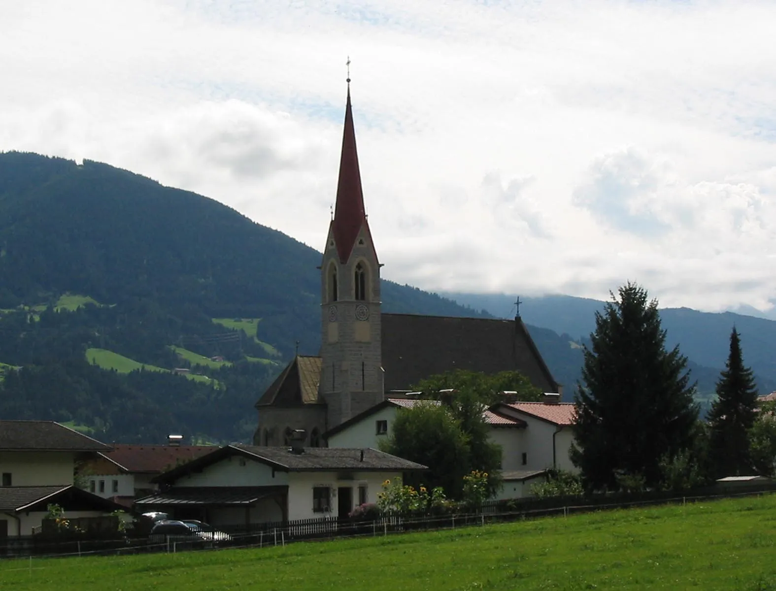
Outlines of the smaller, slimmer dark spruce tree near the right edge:
M 743 365 L 741 341 L 733 327 L 725 371 L 717 382 L 717 399 L 706 417 L 709 447 L 717 478 L 750 474 L 748 431 L 757 416 L 757 387 L 750 368 Z

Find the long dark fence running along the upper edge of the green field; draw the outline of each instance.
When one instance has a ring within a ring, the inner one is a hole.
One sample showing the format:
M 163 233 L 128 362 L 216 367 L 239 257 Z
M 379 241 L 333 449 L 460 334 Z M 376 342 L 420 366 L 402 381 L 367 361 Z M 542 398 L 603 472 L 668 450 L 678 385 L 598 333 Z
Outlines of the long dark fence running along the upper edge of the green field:
M 285 546 L 295 541 L 327 540 L 336 537 L 387 536 L 411 531 L 455 529 L 457 527 L 482 526 L 516 520 L 535 519 L 553 515 L 568 516 L 598 510 L 621 509 L 636 506 L 654 506 L 676 503 L 694 503 L 702 500 L 760 496 L 776 492 L 774 486 L 762 486 L 744 492 L 705 489 L 693 491 L 687 496 L 676 493 L 640 493 L 598 495 L 594 497 L 566 497 L 549 499 L 514 499 L 483 503 L 476 509 L 461 513 L 439 515 L 387 515 L 376 520 L 351 521 L 336 517 L 292 520 L 277 523 L 252 524 L 245 527 L 223 527 L 229 539 L 203 540 L 182 536 L 85 538 L 33 536 L 8 537 L 0 540 L 0 557 L 31 558 L 85 555 L 127 555 L 148 552 L 211 550 L 216 548 L 247 548 Z

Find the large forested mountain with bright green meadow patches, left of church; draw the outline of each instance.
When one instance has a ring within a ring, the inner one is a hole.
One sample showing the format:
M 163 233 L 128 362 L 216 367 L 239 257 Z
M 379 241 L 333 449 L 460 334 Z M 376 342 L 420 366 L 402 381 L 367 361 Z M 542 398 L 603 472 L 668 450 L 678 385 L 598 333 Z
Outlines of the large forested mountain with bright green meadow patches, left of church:
M 0 154 L 0 416 L 107 441 L 244 440 L 285 361 L 317 353 L 320 257 L 107 164 Z M 482 315 L 393 282 L 383 300 Z

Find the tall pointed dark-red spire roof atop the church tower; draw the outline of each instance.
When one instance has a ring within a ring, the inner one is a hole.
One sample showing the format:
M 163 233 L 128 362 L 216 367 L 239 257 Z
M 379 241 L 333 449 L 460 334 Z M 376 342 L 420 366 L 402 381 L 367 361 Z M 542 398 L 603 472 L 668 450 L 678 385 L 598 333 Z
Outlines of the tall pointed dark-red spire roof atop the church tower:
M 342 134 L 342 154 L 340 157 L 340 175 L 337 185 L 337 205 L 334 207 L 332 232 L 341 262 L 350 257 L 359 236 L 362 224 L 366 223 L 364 194 L 361 189 L 359 172 L 359 154 L 355 150 L 355 130 L 353 113 L 350 106 L 350 87 L 348 103 L 345 105 L 345 133 Z

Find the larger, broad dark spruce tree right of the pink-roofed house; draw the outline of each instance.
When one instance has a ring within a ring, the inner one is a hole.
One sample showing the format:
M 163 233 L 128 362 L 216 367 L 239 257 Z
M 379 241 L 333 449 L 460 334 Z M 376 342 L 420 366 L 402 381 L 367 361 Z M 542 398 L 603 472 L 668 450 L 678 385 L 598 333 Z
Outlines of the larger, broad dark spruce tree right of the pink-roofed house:
M 666 351 L 657 301 L 628 283 L 595 315 L 577 385 L 572 460 L 590 489 L 661 480 L 660 461 L 691 448 L 698 408 L 678 347 Z M 619 482 L 618 482 L 619 481 Z

